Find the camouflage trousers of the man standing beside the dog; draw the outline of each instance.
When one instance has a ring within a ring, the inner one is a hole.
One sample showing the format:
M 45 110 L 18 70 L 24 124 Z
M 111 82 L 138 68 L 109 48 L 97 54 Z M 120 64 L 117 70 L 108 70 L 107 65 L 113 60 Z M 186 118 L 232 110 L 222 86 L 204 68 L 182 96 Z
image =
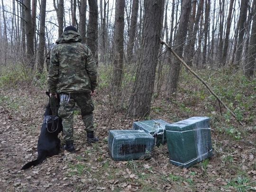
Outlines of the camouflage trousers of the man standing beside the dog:
M 92 103 L 90 93 L 60 94 L 60 98 L 61 101 L 58 115 L 62 118 L 64 139 L 66 141 L 73 141 L 73 112 L 75 103 L 81 110 L 85 130 L 94 131 L 92 113 L 94 105 Z

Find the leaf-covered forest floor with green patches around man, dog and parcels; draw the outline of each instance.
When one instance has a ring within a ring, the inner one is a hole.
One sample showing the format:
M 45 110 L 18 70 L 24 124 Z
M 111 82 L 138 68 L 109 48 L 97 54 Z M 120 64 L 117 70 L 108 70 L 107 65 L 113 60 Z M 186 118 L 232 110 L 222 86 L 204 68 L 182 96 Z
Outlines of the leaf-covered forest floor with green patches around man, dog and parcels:
M 243 111 L 247 120 L 240 126 L 224 111 L 221 116 L 219 104 L 212 101 L 210 93 L 198 82 L 189 83 L 191 80 L 185 76 L 173 100 L 152 101 L 150 118 L 176 122 L 193 116 L 211 117 L 214 155 L 189 168 L 170 163 L 166 144 L 155 147 L 149 160 L 113 161 L 108 153 L 108 131 L 131 129 L 135 119 L 110 110 L 108 95 L 101 89 L 94 97 L 100 142 L 86 143 L 82 119 L 75 111 L 76 152 L 62 150 L 41 165 L 21 171 L 26 162 L 37 158 L 37 140 L 48 97 L 36 86 L 0 89 L 0 191 L 256 191 L 255 98 L 250 111 Z M 245 89 L 243 94 L 255 96 L 255 87 Z M 238 92 L 233 94 L 236 97 Z M 253 116 L 247 118 L 248 113 Z

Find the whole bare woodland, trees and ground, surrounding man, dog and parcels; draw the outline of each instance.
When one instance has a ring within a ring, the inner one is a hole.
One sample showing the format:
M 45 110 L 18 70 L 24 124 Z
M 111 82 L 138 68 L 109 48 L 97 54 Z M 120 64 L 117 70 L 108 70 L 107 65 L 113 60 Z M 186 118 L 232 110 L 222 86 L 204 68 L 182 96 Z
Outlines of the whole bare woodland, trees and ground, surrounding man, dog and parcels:
M 75 154 L 20 171 L 36 156 L 47 65 L 68 25 L 98 66 L 100 142 L 85 142 L 75 109 Z M 0 0 L 0 191 L 255 191 L 255 59 L 256 0 Z M 109 130 L 198 116 L 210 117 L 211 159 L 175 167 L 167 145 L 147 160 L 108 154 Z

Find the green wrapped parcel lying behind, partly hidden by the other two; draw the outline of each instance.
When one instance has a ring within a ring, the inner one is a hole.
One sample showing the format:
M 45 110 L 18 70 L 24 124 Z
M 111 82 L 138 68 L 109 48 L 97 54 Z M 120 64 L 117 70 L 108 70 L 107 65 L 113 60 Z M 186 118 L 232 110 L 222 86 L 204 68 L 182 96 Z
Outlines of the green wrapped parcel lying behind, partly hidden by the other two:
M 147 121 L 135 121 L 133 122 L 133 129 L 143 130 L 148 134 L 155 137 L 155 145 L 164 144 L 166 142 L 165 125 L 169 123 L 162 120 L 147 120 Z

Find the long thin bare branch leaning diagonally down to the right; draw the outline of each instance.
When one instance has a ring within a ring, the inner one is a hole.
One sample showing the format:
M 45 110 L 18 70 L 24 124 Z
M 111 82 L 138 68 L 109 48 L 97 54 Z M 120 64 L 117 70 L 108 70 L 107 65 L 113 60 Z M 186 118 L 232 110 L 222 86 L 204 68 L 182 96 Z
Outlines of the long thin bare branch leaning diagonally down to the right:
M 174 52 L 174 50 L 172 50 L 172 48 L 171 48 L 166 42 L 164 42 L 162 39 L 160 39 L 160 42 L 161 42 L 161 44 L 165 44 L 165 46 L 168 48 L 168 50 L 170 50 L 170 51 L 174 54 L 174 56 L 183 64 L 183 66 L 185 66 L 193 75 L 196 76 L 197 79 L 199 79 L 199 80 L 206 86 L 206 88 L 211 92 L 211 94 L 229 111 L 229 113 L 238 121 L 238 123 L 239 123 L 240 125 L 243 125 L 242 122 L 238 120 L 238 117 L 235 115 L 235 113 L 233 113 L 233 111 L 231 111 L 231 110 L 227 107 L 227 105 L 226 105 L 221 99 L 219 99 L 219 97 L 215 94 L 215 92 L 213 92 L 213 91 L 211 90 L 211 88 L 209 87 L 209 85 L 208 85 L 200 76 L 198 76 L 198 75 L 185 63 L 185 61 L 183 61 L 183 59 L 180 58 L 180 57 Z

